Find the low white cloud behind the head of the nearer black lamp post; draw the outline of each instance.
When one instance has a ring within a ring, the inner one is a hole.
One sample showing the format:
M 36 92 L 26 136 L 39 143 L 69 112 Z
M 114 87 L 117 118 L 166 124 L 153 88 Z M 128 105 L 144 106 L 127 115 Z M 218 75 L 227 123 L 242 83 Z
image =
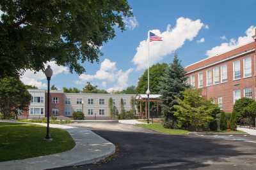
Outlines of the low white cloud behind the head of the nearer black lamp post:
M 60 73 L 68 73 L 68 67 L 65 66 L 58 66 L 55 61 L 47 62 L 47 64 L 44 64 L 45 67 L 47 65 L 51 66 L 51 69 L 53 71 L 52 76 L 56 76 Z M 45 80 L 45 74 L 43 71 L 38 71 L 35 73 L 35 71 L 27 70 L 25 73 L 20 77 L 20 80 L 26 84 L 26 85 L 35 85 L 36 87 L 44 88 L 47 87 L 46 83 L 42 83 L 42 80 Z

